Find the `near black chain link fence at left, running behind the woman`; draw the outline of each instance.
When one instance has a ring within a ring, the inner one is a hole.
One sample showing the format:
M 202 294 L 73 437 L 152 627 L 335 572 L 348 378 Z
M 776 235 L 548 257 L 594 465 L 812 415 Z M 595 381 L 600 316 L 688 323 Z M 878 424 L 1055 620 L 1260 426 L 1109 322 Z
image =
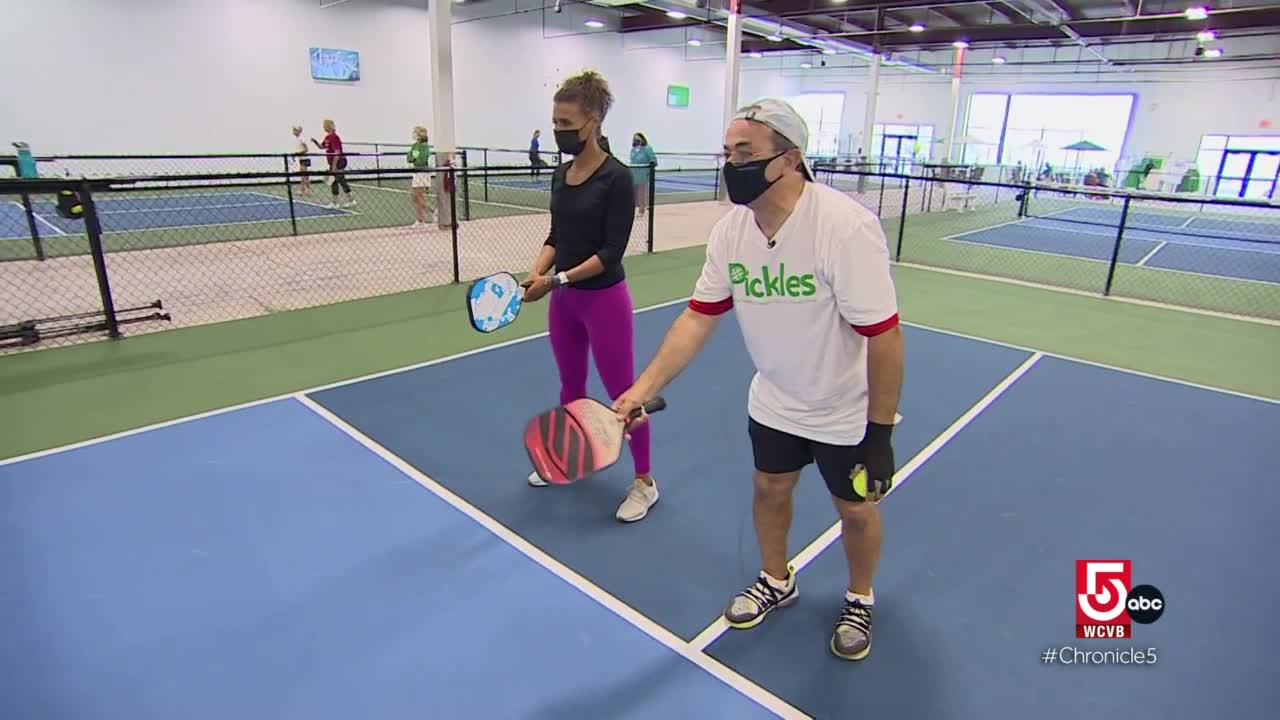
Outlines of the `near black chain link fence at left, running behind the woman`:
M 648 168 L 639 168 L 648 172 Z M 0 179 L 0 351 L 525 272 L 550 232 L 527 169 Z M 490 200 L 471 197 L 480 178 Z M 627 255 L 653 251 L 636 215 Z

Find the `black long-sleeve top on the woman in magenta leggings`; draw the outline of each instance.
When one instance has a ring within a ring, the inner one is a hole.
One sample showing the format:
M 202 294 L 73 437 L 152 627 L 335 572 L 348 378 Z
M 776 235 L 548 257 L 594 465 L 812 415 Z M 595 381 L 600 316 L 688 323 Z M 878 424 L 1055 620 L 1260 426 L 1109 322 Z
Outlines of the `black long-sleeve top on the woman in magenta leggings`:
M 622 256 L 635 223 L 635 182 L 631 170 L 612 155 L 582 184 L 568 184 L 570 163 L 552 174 L 552 232 L 556 269 L 568 270 L 599 255 L 604 272 L 570 287 L 600 290 L 626 277 Z

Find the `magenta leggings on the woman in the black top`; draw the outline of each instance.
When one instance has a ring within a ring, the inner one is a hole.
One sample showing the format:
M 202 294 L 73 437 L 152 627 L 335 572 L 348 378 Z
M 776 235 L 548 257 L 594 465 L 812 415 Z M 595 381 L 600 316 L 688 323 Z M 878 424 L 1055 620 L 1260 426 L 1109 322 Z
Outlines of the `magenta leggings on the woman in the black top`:
M 586 354 L 595 357 L 609 400 L 635 382 L 631 293 L 620 282 L 603 290 L 562 287 L 552 292 L 548 324 L 561 374 L 561 404 L 586 397 Z M 631 432 L 636 474 L 649 473 L 649 423 Z

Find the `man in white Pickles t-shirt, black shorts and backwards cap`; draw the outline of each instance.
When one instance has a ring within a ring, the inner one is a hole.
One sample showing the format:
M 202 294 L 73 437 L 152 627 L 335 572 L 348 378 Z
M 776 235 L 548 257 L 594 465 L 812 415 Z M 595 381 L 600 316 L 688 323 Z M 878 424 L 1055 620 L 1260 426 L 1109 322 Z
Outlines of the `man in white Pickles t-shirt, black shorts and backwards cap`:
M 712 229 L 689 307 L 635 384 L 620 421 L 658 395 L 737 310 L 756 368 L 748 396 L 763 569 L 724 611 L 751 628 L 797 598 L 787 564 L 791 495 L 815 464 L 841 519 L 849 588 L 831 637 L 847 660 L 870 652 L 872 579 L 879 560 L 876 502 L 893 477 L 891 434 L 902 384 L 902 333 L 879 220 L 813 181 L 809 132 L 786 102 L 760 100 L 724 136 L 724 186 L 736 205 Z

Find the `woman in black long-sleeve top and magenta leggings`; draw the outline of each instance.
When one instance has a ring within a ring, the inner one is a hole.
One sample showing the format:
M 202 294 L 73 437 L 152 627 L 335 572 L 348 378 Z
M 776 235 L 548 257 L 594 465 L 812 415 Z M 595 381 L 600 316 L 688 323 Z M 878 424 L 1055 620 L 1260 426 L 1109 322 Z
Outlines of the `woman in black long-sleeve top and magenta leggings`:
M 608 83 L 590 70 L 556 91 L 556 145 L 573 160 L 552 173 L 550 233 L 521 283 L 526 302 L 550 293 L 548 325 L 561 404 L 586 397 L 589 357 L 611 398 L 635 379 L 632 304 L 622 268 L 635 188 L 627 167 L 600 147 L 600 124 L 612 105 Z M 625 523 L 640 520 L 658 501 L 649 474 L 648 424 L 631 433 L 630 445 L 635 480 L 614 515 Z M 536 473 L 529 483 L 547 484 Z

